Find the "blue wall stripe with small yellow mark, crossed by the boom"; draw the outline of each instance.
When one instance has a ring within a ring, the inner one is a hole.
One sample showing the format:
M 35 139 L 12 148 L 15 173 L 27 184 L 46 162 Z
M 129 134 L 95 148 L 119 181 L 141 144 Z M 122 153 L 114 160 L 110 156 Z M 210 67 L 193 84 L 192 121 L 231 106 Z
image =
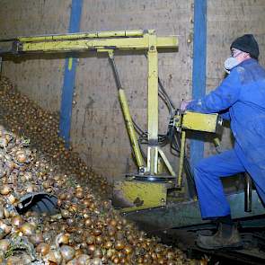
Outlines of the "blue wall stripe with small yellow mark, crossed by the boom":
M 69 33 L 80 31 L 80 20 L 82 14 L 83 0 L 72 0 Z M 75 90 L 76 58 L 66 58 L 64 84 L 62 88 L 61 110 L 60 110 L 60 137 L 69 146 L 72 102 Z

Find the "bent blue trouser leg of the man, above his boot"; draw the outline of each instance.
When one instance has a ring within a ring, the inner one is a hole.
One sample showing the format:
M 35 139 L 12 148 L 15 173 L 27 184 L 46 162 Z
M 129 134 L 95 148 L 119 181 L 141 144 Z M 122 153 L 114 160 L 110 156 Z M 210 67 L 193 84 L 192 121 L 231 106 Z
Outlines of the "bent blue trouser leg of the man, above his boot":
M 245 171 L 234 150 L 205 158 L 194 167 L 194 180 L 203 219 L 230 215 L 221 178 Z

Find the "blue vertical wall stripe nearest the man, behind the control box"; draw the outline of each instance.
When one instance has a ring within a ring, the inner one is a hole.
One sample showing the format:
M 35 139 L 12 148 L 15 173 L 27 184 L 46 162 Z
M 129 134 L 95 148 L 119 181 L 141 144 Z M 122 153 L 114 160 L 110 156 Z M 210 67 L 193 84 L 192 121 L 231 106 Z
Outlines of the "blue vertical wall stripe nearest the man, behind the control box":
M 192 98 L 199 99 L 206 93 L 207 59 L 207 0 L 194 0 L 194 43 L 192 70 Z M 203 157 L 204 142 L 194 137 L 190 142 L 190 164 L 193 167 Z

